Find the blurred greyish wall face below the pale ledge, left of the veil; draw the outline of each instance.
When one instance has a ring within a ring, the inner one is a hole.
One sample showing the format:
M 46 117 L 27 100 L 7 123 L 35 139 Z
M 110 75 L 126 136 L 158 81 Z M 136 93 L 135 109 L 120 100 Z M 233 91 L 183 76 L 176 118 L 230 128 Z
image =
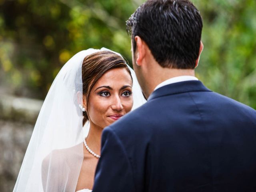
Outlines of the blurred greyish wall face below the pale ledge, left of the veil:
M 1 192 L 13 190 L 32 131 L 31 124 L 0 120 Z

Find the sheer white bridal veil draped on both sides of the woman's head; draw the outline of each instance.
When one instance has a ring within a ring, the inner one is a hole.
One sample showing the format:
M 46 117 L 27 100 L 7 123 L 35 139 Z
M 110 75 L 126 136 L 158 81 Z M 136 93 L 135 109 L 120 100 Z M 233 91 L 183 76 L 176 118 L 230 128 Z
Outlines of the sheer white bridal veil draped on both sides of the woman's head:
M 88 49 L 74 55 L 60 70 L 44 100 L 32 133 L 14 192 L 74 192 L 83 161 L 82 62 L 99 51 Z M 129 67 L 129 66 L 128 66 Z M 130 68 L 130 67 L 129 67 Z M 144 104 L 134 71 L 134 108 Z

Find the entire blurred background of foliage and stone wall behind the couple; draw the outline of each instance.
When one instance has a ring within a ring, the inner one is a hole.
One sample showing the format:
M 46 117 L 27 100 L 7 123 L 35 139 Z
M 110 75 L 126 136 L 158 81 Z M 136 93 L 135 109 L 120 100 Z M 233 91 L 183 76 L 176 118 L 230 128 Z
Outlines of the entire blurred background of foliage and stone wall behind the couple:
M 76 52 L 110 48 L 131 62 L 125 21 L 144 0 L 0 0 L 0 191 L 12 191 L 36 117 Z M 256 109 L 256 1 L 193 0 L 204 27 L 196 76 Z

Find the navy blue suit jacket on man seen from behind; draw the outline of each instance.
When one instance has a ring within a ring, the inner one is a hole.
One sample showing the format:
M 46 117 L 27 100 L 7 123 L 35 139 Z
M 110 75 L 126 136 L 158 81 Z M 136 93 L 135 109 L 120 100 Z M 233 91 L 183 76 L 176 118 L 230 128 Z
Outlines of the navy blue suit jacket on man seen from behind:
M 256 192 L 256 111 L 200 81 L 104 129 L 93 192 Z

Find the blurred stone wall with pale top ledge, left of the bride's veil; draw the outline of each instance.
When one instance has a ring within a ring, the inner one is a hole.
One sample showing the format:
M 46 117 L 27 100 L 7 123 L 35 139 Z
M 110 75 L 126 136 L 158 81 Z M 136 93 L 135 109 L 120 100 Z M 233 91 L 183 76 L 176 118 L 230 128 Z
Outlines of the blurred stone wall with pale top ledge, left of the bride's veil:
M 0 95 L 0 192 L 14 188 L 42 101 Z

